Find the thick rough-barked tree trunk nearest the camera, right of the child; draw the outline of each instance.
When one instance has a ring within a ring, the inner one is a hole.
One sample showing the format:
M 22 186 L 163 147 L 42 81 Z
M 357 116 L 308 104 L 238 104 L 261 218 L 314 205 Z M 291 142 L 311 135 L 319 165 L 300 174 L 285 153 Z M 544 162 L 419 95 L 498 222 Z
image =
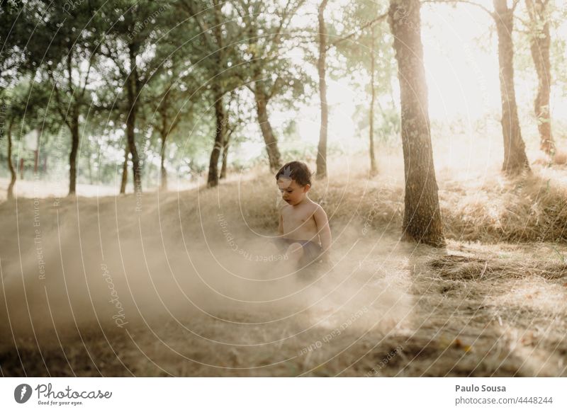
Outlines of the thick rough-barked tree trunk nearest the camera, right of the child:
M 444 246 L 427 108 L 420 1 L 391 0 L 388 15 L 398 61 L 402 108 L 405 172 L 403 238 Z

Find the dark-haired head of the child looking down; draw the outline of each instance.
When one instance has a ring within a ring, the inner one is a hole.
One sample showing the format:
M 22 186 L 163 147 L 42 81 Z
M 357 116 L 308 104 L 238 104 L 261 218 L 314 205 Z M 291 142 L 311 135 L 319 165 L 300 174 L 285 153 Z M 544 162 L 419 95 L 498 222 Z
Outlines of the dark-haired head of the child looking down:
M 297 205 L 311 188 L 311 172 L 302 161 L 290 161 L 276 173 L 281 197 L 290 205 Z

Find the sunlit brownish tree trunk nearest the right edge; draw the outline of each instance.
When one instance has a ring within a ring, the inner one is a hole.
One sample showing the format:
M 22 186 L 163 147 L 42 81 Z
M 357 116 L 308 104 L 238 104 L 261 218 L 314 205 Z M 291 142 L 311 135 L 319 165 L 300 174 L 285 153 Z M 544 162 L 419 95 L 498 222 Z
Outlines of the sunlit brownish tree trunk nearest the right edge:
M 539 130 L 540 148 L 546 154 L 553 155 L 555 144 L 551 135 L 551 113 L 549 111 L 549 95 L 551 94 L 551 64 L 549 62 L 549 21 L 547 18 L 547 1 L 526 0 L 526 7 L 531 24 L 530 50 L 537 72 L 537 96 L 534 110 Z

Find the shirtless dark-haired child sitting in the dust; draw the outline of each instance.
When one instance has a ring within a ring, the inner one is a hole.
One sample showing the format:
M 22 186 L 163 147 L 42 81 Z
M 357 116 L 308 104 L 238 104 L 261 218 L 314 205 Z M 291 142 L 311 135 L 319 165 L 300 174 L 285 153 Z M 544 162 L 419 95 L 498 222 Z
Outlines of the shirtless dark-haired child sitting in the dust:
M 280 209 L 276 246 L 299 268 L 314 261 L 329 263 L 331 231 L 325 210 L 308 197 L 308 166 L 291 161 L 278 171 L 276 181 L 285 202 Z

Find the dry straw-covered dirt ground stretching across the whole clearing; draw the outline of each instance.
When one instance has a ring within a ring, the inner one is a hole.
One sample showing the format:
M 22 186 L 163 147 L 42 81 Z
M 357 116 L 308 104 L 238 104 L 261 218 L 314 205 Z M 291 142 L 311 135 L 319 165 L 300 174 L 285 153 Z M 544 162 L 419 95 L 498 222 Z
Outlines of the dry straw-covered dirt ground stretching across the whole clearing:
M 440 176 L 447 248 L 398 241 L 399 175 L 335 181 L 332 266 L 299 272 L 267 179 L 4 202 L 1 374 L 567 376 L 563 188 Z

